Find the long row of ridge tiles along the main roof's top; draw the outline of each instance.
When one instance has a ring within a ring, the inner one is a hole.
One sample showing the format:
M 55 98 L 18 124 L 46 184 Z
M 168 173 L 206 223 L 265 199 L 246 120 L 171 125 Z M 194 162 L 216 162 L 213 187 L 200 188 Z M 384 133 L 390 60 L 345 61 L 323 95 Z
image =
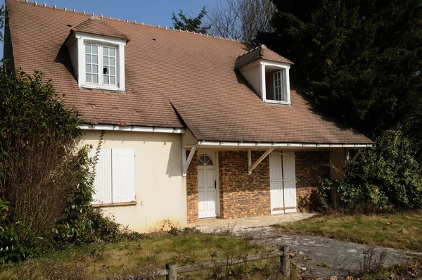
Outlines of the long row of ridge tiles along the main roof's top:
M 26 3 L 26 4 L 34 4 L 35 6 L 41 6 L 40 4 L 38 4 L 37 3 L 37 1 L 34 1 L 34 2 L 31 2 L 31 1 L 28 1 L 28 0 L 15 0 L 15 1 L 18 1 L 18 2 L 23 2 L 23 3 Z M 69 11 L 69 12 L 73 12 L 73 13 L 80 13 L 80 14 L 83 14 L 83 15 L 95 15 L 95 13 L 85 13 L 85 11 L 76 11 L 75 9 L 73 9 L 73 10 L 68 10 L 68 8 L 57 8 L 56 7 L 56 5 L 54 5 L 54 6 L 49 6 L 49 5 L 46 5 L 45 3 L 44 4 L 42 4 L 42 7 L 44 7 L 44 8 L 53 8 L 53 9 L 55 9 L 55 10 L 63 10 L 63 11 Z M 155 27 L 155 28 L 160 28 L 160 29 L 165 29 L 165 30 L 172 30 L 172 31 L 178 31 L 178 32 L 185 32 L 185 33 L 190 33 L 190 34 L 196 34 L 196 35 L 200 35 L 200 36 L 204 36 L 204 37 L 210 37 L 210 38 L 213 38 L 213 39 L 222 39 L 222 40 L 226 40 L 226 41 L 229 41 L 229 42 L 236 42 L 236 43 L 243 43 L 243 44 L 250 44 L 250 45 L 256 45 L 256 43 L 255 42 L 245 42 L 245 41 L 241 41 L 241 40 L 236 40 L 236 39 L 231 39 L 231 38 L 227 38 L 227 37 L 221 37 L 221 36 L 216 36 L 216 35 L 211 35 L 211 34 L 207 34 L 207 33 L 205 33 L 205 34 L 203 34 L 203 33 L 198 33 L 198 32 L 194 32 L 194 31 L 188 31 L 188 30 L 181 30 L 181 29 L 175 29 L 174 27 L 167 27 L 167 26 L 165 26 L 165 27 L 160 27 L 160 25 L 150 25 L 150 24 L 148 24 L 148 23 L 137 23 L 136 22 L 136 20 L 131 20 L 131 21 L 129 21 L 129 20 L 122 20 L 122 19 L 120 19 L 120 18 L 112 18 L 112 17 L 106 17 L 106 16 L 103 16 L 102 14 L 101 15 L 99 15 L 99 17 L 100 18 L 106 18 L 106 19 L 109 19 L 109 20 L 117 20 L 117 21 L 126 21 L 127 23 L 132 23 L 132 24 L 135 24 L 135 25 L 143 25 L 143 26 L 146 26 L 146 27 Z

